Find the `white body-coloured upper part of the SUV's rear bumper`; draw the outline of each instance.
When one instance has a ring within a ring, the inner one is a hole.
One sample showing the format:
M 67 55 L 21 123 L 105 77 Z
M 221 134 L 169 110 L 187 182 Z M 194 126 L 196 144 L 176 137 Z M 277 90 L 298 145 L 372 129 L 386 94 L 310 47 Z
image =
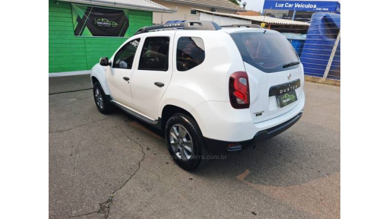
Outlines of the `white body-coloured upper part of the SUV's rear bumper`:
M 301 91 L 299 101 L 288 110 L 262 122 L 253 122 L 249 109 L 233 109 L 230 102 L 205 101 L 191 110 L 204 137 L 226 142 L 248 141 L 262 130 L 285 123 L 304 109 L 305 96 Z M 276 104 L 276 103 L 274 103 Z

